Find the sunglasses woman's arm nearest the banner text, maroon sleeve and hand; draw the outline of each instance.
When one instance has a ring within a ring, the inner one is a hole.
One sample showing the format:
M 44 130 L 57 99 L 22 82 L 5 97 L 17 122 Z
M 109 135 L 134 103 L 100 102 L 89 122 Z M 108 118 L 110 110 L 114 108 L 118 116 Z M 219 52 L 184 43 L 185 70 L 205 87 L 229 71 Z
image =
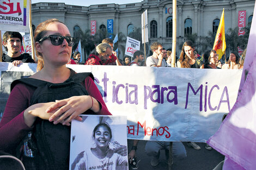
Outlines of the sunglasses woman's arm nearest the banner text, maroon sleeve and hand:
M 99 115 L 111 115 L 92 78 L 87 77 L 85 79 L 85 88 L 88 91 L 88 95 L 73 96 L 59 100 L 49 106 L 46 112 L 54 112 L 49 121 L 54 124 L 70 125 L 72 119 L 82 121 L 79 115 L 89 109 Z M 56 109 L 58 110 L 56 111 Z

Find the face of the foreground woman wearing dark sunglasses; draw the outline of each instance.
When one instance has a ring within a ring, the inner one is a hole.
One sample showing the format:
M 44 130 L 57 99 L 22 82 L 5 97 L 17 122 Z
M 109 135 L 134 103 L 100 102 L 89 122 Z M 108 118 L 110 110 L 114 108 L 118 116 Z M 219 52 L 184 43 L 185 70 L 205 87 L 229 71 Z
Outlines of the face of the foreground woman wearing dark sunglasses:
M 70 36 L 68 27 L 63 23 L 53 22 L 46 28 L 46 34 L 44 35 L 62 35 Z M 38 48 L 39 47 L 39 48 Z M 68 42 L 64 39 L 61 45 L 54 46 L 51 43 L 51 39 L 48 38 L 42 41 L 41 45 L 36 45 L 36 48 L 44 58 L 44 65 L 65 65 L 70 60 L 72 47 L 68 46 Z

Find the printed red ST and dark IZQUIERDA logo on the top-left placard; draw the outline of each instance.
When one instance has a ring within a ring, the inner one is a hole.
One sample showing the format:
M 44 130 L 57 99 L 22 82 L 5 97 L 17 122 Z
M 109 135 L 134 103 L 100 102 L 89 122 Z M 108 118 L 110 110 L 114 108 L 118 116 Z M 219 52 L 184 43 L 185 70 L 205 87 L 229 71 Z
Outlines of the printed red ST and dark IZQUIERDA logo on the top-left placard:
M 0 1 L 0 23 L 12 25 L 27 25 L 27 4 L 25 1 Z

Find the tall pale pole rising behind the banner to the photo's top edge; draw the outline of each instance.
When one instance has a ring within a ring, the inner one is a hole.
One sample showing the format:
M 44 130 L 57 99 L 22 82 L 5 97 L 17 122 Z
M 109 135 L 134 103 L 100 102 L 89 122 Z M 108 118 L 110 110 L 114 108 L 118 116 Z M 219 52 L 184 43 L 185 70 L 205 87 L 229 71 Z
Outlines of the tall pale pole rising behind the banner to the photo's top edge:
M 173 45 L 172 45 L 172 67 L 175 67 L 175 54 L 176 54 L 176 0 L 173 0 Z

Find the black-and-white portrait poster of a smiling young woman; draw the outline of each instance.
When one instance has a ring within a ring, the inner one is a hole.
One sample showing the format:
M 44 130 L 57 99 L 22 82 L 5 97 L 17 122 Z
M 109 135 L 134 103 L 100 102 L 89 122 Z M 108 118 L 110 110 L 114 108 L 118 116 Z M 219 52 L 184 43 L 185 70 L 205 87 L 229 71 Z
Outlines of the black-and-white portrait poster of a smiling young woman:
M 126 116 L 81 115 L 73 120 L 69 169 L 128 169 Z

